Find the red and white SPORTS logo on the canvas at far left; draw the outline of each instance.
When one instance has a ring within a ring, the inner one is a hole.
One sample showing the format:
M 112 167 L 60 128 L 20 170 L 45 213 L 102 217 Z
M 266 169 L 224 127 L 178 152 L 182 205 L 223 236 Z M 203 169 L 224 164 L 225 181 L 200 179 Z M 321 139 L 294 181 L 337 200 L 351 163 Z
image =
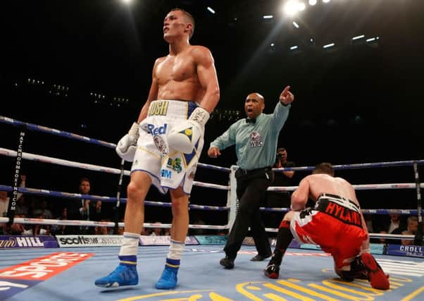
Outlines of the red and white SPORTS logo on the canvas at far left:
M 92 253 L 58 252 L 3 269 L 0 271 L 0 300 L 6 300 L 92 256 Z

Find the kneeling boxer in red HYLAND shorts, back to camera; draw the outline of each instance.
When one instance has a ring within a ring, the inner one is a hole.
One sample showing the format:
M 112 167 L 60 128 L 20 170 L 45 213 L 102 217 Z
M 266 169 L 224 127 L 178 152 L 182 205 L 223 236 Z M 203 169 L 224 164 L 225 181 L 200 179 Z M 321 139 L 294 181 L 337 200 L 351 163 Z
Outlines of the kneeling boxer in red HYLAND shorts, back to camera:
M 316 203 L 305 209 L 308 197 Z M 345 281 L 366 278 L 373 288 L 389 289 L 389 276 L 370 254 L 368 230 L 355 190 L 347 180 L 334 178 L 331 164 L 318 164 L 312 175 L 301 180 L 292 194 L 291 209 L 278 229 L 265 276 L 278 278 L 282 257 L 295 238 L 330 253 L 337 275 Z

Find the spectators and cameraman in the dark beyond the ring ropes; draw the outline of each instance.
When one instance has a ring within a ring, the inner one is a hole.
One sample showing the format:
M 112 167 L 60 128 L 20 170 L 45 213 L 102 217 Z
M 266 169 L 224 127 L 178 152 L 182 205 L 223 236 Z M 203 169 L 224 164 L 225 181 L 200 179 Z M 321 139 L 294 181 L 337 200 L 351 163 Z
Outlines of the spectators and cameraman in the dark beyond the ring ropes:
M 294 167 L 293 161 L 288 161 L 287 149 L 278 148 L 278 154 L 274 168 Z M 275 181 L 273 186 L 294 186 L 294 171 L 275 172 Z M 20 176 L 20 187 L 25 188 L 27 176 Z M 89 178 L 81 178 L 78 186 L 78 192 L 81 195 L 90 195 L 91 182 Z M 9 193 L 0 191 L 0 216 L 7 216 L 8 202 L 10 202 Z M 360 199 L 361 202 L 361 199 Z M 261 207 L 289 208 L 289 192 L 267 192 L 265 199 L 261 202 Z M 158 211 L 154 207 L 152 212 Z M 282 211 L 262 211 L 263 221 L 266 228 L 278 228 L 285 212 Z M 51 197 L 40 197 L 35 195 L 23 195 L 18 193 L 18 201 L 15 207 L 15 218 L 35 218 L 35 219 L 58 219 L 58 220 L 80 220 L 80 221 L 114 221 L 116 209 L 114 203 L 102 202 L 101 200 L 89 199 L 54 199 Z M 152 223 L 161 224 L 156 218 L 163 216 L 158 213 L 152 216 L 155 220 Z M 208 211 L 190 211 L 190 223 L 197 225 L 216 224 L 207 219 Z M 370 233 L 388 233 L 401 235 L 415 235 L 418 230 L 417 216 L 406 216 L 400 214 L 370 215 L 365 214 L 366 224 Z M 148 218 L 148 216 L 147 216 Z M 161 219 L 163 223 L 168 223 Z M 119 221 L 123 221 L 120 216 Z M 146 222 L 149 222 L 147 219 Z M 169 235 L 169 228 L 144 228 L 142 235 Z M 118 228 L 118 234 L 123 233 L 123 227 Z M 44 224 L 25 224 L 13 223 L 7 225 L 0 223 L 0 235 L 111 235 L 114 233 L 113 227 L 106 226 L 62 226 L 62 225 L 44 225 Z M 227 231 L 216 231 L 211 229 L 189 229 L 189 235 L 226 235 Z M 273 233 L 269 233 L 272 237 Z M 375 243 L 394 243 L 401 245 L 413 245 L 413 240 L 388 240 L 384 238 L 375 238 L 371 242 Z

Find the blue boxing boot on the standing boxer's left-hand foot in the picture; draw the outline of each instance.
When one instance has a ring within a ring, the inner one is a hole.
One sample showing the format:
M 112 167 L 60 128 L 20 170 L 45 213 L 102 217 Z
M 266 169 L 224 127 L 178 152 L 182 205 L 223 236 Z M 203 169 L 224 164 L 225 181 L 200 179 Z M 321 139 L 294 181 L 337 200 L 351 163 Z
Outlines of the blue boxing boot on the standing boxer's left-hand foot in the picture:
M 101 288 L 118 288 L 125 285 L 137 285 L 137 256 L 120 256 L 120 264 L 118 267 L 106 277 L 96 280 L 94 283 Z

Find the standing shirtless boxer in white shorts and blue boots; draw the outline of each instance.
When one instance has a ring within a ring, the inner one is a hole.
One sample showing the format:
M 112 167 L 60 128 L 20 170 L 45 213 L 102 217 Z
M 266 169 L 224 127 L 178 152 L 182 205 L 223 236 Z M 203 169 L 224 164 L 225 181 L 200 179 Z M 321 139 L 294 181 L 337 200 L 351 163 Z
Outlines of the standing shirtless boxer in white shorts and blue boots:
M 219 86 L 211 51 L 192 46 L 192 15 L 174 8 L 163 20 L 169 54 L 154 63 L 149 97 L 137 123 L 116 147 L 133 161 L 127 187 L 125 232 L 118 267 L 95 284 L 101 287 L 136 285 L 137 246 L 144 223 L 144 198 L 151 184 L 170 189 L 173 221 L 165 269 L 156 288 L 177 285 L 177 271 L 189 225 L 188 197 L 204 144 L 204 125 L 219 101 Z

